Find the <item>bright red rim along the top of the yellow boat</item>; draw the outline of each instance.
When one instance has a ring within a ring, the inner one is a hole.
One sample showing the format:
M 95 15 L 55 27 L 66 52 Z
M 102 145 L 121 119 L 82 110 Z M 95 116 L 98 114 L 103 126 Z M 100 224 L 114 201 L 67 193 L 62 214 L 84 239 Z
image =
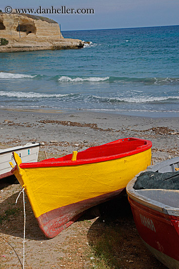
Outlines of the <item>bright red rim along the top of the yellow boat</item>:
M 34 167 L 53 167 L 53 166 L 72 166 L 72 165 L 80 165 L 80 164 L 88 164 L 88 163 L 96 163 L 96 162 L 102 162 L 102 161 L 108 161 L 108 160 L 113 160 L 113 159 L 118 159 L 118 158 L 122 158 L 122 157 L 127 157 L 127 156 L 131 156 L 131 155 L 135 155 L 138 154 L 140 152 L 146 151 L 148 149 L 150 149 L 152 147 L 152 142 L 149 140 L 145 140 L 145 139 L 139 139 L 139 138 L 134 138 L 134 137 L 129 137 L 129 138 L 123 138 L 123 139 L 119 139 L 107 144 L 103 144 L 101 146 L 97 146 L 97 147 L 91 147 L 88 148 L 87 150 L 93 150 L 93 149 L 102 149 L 105 146 L 111 145 L 111 146 L 115 146 L 116 144 L 119 143 L 119 145 L 122 145 L 123 142 L 145 142 L 145 144 L 143 145 L 139 145 L 137 146 L 137 148 L 135 150 L 131 150 L 125 153 L 121 153 L 121 154 L 117 154 L 117 155 L 110 155 L 110 156 L 104 156 L 104 157 L 94 157 L 94 158 L 87 158 L 87 159 L 79 159 L 76 161 L 71 161 L 71 160 L 56 160 L 55 158 L 51 158 L 51 159 L 47 159 L 41 162 L 31 162 L 31 163 L 21 163 L 20 164 L 20 168 L 34 168 Z M 87 151 L 86 150 L 86 151 Z M 85 152 L 85 151 L 82 151 Z M 79 152 L 80 153 L 80 152 Z M 60 158 L 59 158 L 60 159 Z M 16 167 L 14 167 L 11 172 L 15 171 Z

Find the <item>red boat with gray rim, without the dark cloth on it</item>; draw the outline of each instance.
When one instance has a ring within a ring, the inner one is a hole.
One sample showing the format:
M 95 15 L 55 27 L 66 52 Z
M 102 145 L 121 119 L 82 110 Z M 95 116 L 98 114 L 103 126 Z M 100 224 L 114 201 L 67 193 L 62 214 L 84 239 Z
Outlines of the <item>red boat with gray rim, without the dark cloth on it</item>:
M 145 171 L 179 171 L 179 157 L 149 166 Z M 161 263 L 169 269 L 179 269 L 179 190 L 134 189 L 138 176 L 126 190 L 139 236 Z

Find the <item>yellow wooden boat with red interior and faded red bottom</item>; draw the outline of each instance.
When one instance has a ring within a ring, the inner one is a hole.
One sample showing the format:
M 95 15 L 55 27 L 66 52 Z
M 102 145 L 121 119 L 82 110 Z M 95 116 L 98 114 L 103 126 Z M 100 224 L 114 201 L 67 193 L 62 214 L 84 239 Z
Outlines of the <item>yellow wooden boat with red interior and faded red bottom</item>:
M 119 139 L 81 152 L 22 163 L 14 154 L 11 170 L 30 201 L 41 231 L 53 238 L 84 210 L 119 195 L 151 164 L 152 142 Z

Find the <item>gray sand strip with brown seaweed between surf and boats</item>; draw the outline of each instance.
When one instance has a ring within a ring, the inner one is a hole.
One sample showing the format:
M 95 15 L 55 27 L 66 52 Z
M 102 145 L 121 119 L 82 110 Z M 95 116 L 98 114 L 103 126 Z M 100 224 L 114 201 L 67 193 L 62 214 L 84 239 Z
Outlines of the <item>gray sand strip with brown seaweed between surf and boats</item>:
M 4 120 L 8 120 L 4 122 Z M 149 139 L 155 160 L 179 155 L 179 118 L 151 118 L 97 112 L 0 111 L 0 142 L 43 142 L 41 150 L 64 154 L 123 137 Z

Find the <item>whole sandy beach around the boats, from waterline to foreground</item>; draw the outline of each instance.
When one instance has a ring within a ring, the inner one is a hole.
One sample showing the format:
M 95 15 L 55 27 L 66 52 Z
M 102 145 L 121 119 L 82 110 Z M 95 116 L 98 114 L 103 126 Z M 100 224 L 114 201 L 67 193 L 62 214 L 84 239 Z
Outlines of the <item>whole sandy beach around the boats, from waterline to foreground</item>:
M 0 147 L 40 142 L 40 159 L 60 157 L 119 138 L 151 140 L 154 164 L 179 156 L 179 117 L 137 117 L 99 112 L 0 110 Z M 0 269 L 22 268 L 23 203 L 14 203 L 21 187 L 0 182 Z M 140 242 L 126 197 L 105 203 L 103 215 L 83 216 L 57 237 L 47 240 L 36 223 L 26 200 L 26 269 L 100 268 L 96 249 L 104 233 L 116 241 L 111 267 L 121 269 L 164 269 Z M 121 206 L 123 204 L 123 206 Z M 8 210 L 14 209 L 14 213 Z M 118 229 L 118 231 L 116 230 Z M 112 231 L 112 232 L 111 232 Z M 118 238 L 116 238 L 116 232 Z M 115 234 L 115 238 L 114 238 Z M 101 241 L 102 242 L 102 241 Z M 108 242 L 108 243 L 109 243 Z M 100 251 L 99 251 L 100 252 Z M 20 260 L 19 260 L 20 259 Z

